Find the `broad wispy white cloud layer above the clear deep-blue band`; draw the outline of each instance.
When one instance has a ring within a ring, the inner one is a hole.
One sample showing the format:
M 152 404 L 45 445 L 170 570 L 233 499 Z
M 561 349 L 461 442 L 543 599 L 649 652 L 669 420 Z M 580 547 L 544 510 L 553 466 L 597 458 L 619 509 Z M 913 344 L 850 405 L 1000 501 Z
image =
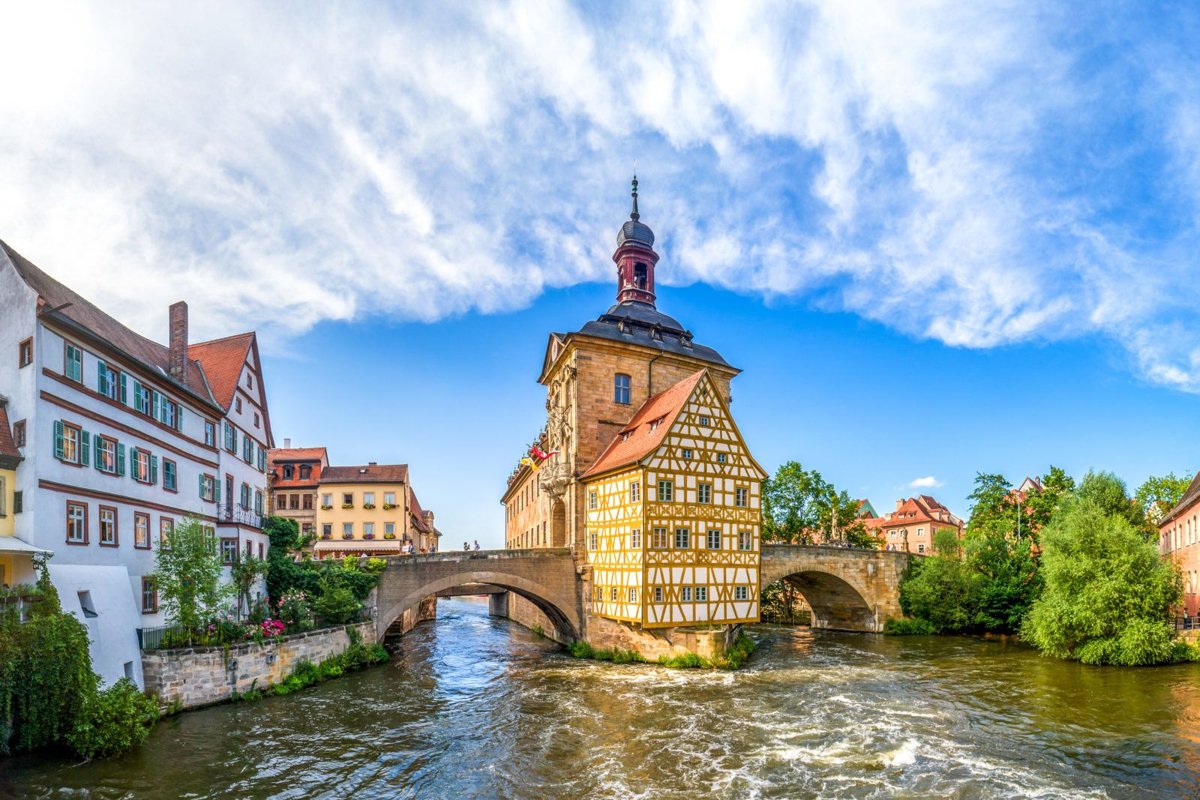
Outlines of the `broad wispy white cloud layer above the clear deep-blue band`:
M 278 342 L 607 278 L 637 157 L 666 283 L 1198 391 L 1200 17 L 1110 11 L 14 4 L 0 236 L 142 330 L 186 296 Z

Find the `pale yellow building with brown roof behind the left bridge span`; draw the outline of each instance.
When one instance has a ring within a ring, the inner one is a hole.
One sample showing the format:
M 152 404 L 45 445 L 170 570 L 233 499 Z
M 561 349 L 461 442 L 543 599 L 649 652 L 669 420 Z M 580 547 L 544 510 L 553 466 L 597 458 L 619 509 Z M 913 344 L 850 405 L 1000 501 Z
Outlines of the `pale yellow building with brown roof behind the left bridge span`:
M 418 501 L 407 464 L 325 467 L 317 495 L 317 558 L 439 549 L 433 512 Z

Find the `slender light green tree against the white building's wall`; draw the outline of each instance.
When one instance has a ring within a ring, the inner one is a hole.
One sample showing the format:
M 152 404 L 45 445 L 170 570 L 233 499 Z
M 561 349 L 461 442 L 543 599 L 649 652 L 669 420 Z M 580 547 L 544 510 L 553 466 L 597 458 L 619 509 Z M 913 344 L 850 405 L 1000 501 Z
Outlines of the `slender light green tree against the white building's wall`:
M 158 548 L 154 577 L 167 618 L 188 632 L 216 615 L 229 588 L 221 583 L 221 557 L 211 529 L 197 519 L 175 525 Z

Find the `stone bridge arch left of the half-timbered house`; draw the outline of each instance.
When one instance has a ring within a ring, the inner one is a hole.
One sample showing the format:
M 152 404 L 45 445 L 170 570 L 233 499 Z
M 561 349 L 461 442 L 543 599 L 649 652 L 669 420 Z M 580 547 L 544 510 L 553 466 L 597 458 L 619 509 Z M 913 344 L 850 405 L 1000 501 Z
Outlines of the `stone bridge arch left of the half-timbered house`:
M 377 590 L 376 634 L 394 624 L 402 632 L 418 622 L 421 603 L 467 584 L 499 587 L 541 610 L 564 642 L 583 634 L 575 564 L 569 551 L 481 551 L 389 559 Z

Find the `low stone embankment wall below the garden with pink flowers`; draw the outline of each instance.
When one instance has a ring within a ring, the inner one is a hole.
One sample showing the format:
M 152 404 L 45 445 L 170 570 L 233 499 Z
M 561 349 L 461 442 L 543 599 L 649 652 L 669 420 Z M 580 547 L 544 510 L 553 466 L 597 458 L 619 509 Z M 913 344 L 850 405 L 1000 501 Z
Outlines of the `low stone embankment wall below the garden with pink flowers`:
M 308 631 L 271 639 L 263 644 L 224 648 L 149 650 L 142 654 L 145 688 L 167 709 L 176 703 L 184 709 L 222 703 L 238 693 L 266 688 L 280 682 L 300 661 L 313 663 L 335 656 L 350 644 L 355 628 L 364 642 L 374 640 L 374 622 Z M 256 682 L 257 681 L 257 682 Z

